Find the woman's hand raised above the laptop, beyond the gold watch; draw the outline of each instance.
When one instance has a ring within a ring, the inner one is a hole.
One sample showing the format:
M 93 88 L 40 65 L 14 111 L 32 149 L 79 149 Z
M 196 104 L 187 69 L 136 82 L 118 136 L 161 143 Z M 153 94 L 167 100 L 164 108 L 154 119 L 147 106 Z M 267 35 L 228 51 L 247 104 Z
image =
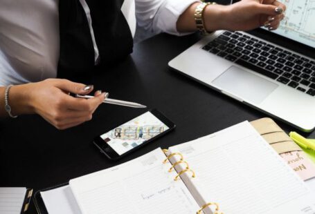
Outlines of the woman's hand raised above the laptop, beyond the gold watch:
M 279 8 L 285 12 L 285 5 L 275 0 L 242 0 L 231 6 L 210 5 L 204 11 L 204 21 L 208 31 L 246 31 L 261 26 L 275 30 L 284 18 Z

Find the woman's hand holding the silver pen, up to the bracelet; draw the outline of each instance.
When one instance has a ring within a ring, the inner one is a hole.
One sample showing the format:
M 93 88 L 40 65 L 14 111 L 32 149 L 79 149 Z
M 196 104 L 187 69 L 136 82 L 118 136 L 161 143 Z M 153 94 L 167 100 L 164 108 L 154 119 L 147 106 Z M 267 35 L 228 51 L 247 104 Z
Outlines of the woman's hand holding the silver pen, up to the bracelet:
M 85 90 L 84 90 L 85 88 Z M 92 119 L 105 94 L 97 91 L 91 99 L 71 97 L 69 93 L 87 95 L 87 87 L 66 79 L 46 79 L 37 83 L 13 86 L 10 100 L 13 114 L 37 113 L 56 128 L 62 130 Z M 21 108 L 24 106 L 24 108 Z

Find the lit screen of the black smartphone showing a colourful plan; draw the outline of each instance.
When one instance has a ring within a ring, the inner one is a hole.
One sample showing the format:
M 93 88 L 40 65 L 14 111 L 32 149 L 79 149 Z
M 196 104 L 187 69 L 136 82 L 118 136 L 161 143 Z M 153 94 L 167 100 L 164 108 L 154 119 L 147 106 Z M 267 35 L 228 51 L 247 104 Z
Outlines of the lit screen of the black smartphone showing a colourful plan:
M 168 129 L 170 129 L 170 127 L 148 111 L 100 135 L 100 138 L 113 148 L 118 155 L 123 155 Z

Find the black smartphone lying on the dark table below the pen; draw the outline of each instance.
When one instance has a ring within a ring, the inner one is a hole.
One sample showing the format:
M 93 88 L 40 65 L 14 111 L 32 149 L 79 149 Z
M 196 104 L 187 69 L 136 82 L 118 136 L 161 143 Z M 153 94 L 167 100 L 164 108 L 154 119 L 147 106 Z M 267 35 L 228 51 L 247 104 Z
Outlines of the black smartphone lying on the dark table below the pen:
M 175 128 L 158 110 L 149 110 L 125 124 L 94 138 L 93 143 L 109 159 L 116 160 L 149 144 Z

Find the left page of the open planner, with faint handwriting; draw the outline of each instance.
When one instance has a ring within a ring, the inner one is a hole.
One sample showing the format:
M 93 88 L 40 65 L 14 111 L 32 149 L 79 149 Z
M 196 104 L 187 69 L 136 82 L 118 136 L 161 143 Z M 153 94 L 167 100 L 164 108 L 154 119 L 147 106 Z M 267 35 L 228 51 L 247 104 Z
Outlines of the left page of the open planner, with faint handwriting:
M 163 164 L 157 148 L 142 157 L 71 179 L 69 186 L 82 214 L 195 213 L 199 206 L 175 171 Z

